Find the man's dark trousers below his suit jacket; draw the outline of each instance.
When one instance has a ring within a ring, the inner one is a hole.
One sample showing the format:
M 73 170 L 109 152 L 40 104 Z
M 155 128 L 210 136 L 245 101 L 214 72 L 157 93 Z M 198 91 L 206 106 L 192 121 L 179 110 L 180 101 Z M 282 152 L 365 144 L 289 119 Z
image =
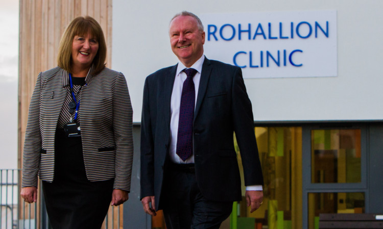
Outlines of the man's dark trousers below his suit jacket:
M 193 169 L 170 166 L 165 172 L 163 193 L 165 198 L 161 202 L 167 229 L 218 229 L 232 211 L 232 201 L 211 201 L 202 195 Z

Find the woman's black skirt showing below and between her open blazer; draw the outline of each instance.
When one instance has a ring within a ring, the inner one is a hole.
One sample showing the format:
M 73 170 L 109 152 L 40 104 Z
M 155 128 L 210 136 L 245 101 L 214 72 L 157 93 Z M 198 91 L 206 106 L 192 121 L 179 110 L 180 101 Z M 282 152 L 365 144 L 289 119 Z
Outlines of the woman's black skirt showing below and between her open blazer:
M 88 181 L 81 137 L 57 130 L 54 181 L 43 181 L 42 190 L 53 229 L 98 229 L 109 209 L 113 179 Z

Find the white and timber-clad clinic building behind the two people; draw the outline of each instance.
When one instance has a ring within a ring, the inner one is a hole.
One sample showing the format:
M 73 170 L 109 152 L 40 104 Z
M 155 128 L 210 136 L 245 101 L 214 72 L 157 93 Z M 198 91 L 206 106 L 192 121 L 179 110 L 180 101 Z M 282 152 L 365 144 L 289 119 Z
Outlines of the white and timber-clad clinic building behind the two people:
M 243 70 L 264 171 L 264 204 L 250 213 L 245 201 L 235 203 L 222 228 L 314 229 L 320 213 L 383 212 L 383 3 L 197 0 L 185 6 L 21 0 L 19 154 L 38 72 L 56 66 L 58 41 L 71 19 L 95 17 L 107 39 L 107 65 L 126 75 L 134 110 L 124 228 L 163 228 L 139 201 L 142 90 L 147 75 L 177 63 L 167 30 L 173 15 L 187 10 L 204 23 L 206 57 Z M 241 167 L 239 154 L 237 160 Z

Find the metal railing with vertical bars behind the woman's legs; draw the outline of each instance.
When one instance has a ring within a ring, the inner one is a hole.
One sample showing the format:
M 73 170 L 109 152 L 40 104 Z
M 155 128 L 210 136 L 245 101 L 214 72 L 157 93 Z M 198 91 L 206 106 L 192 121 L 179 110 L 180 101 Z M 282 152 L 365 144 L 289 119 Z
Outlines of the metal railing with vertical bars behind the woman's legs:
M 0 229 L 51 229 L 42 195 L 37 203 L 22 201 L 20 173 L 20 169 L 0 169 Z M 121 207 L 109 208 L 102 228 L 121 229 L 120 211 Z

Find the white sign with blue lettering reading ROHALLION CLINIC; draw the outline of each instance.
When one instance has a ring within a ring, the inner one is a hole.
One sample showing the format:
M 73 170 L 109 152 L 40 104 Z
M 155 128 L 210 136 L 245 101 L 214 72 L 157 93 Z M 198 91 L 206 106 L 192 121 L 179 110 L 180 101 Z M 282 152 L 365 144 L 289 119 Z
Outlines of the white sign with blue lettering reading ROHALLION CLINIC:
M 244 78 L 337 76 L 337 12 L 201 15 L 205 55 L 242 68 Z

